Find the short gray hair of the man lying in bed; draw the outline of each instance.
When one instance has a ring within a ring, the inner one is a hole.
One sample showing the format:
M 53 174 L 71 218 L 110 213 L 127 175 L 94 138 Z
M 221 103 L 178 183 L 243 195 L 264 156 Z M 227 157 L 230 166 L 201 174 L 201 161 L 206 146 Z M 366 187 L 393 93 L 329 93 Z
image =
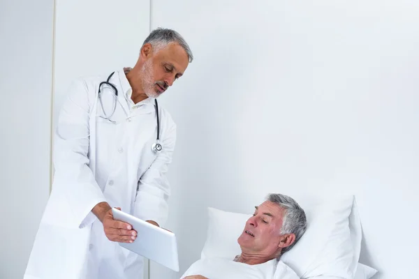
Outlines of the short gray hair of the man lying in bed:
M 297 243 L 306 231 L 307 218 L 304 210 L 292 197 L 281 194 L 270 194 L 267 196 L 267 200 L 286 209 L 281 227 L 281 234 L 295 234 L 294 243 L 291 244 L 291 246 L 282 249 L 281 254 L 284 254 L 284 252 L 293 248 L 295 243 Z

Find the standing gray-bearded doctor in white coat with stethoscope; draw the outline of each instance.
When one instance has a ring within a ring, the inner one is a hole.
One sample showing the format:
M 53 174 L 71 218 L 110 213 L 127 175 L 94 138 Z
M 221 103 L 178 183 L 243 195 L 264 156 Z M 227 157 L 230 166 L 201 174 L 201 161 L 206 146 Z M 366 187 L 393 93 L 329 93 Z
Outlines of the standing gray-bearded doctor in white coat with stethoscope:
M 112 207 L 162 226 L 176 126 L 158 98 L 193 55 L 170 29 L 149 34 L 135 66 L 73 82 L 54 135 L 54 183 L 25 279 L 142 278 L 141 237 Z

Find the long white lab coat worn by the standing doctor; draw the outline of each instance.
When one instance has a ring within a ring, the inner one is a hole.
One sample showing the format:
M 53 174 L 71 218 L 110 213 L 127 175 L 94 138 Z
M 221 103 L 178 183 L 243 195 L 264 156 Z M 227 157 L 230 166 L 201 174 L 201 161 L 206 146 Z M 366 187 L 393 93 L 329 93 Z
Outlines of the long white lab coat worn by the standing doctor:
M 165 175 L 175 148 L 175 123 L 159 106 L 163 151 L 155 154 L 154 99 L 134 105 L 124 70 L 110 80 L 119 91 L 112 116 L 117 123 L 102 119 L 97 92 L 107 78 L 73 82 L 61 109 L 54 135 L 52 193 L 24 279 L 142 278 L 142 257 L 105 238 L 101 222 L 91 213 L 98 202 L 161 226 L 166 222 L 170 186 Z M 102 91 L 110 114 L 113 92 Z

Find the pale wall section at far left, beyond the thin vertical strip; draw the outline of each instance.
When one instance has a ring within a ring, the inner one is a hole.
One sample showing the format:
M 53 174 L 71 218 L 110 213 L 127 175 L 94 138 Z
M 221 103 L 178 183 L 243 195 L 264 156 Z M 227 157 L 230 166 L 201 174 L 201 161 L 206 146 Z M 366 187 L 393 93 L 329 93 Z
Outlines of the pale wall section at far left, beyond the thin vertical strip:
M 0 278 L 22 278 L 50 190 L 53 1 L 0 1 Z

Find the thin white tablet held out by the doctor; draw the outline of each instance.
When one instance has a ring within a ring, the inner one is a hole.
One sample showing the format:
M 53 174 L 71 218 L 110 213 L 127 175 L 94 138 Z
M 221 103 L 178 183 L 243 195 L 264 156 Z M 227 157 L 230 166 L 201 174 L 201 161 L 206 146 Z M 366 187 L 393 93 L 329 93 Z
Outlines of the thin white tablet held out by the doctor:
M 112 214 L 115 220 L 128 223 L 138 233 L 133 243 L 119 242 L 120 246 L 169 269 L 179 271 L 175 234 L 115 208 L 112 208 Z

